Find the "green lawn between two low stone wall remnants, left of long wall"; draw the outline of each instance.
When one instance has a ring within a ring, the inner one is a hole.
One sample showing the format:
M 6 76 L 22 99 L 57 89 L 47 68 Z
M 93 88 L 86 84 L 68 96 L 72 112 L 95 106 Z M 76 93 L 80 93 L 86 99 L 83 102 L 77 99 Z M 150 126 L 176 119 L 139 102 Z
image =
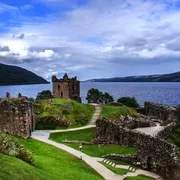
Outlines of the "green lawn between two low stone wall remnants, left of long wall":
M 79 150 L 79 144 L 66 144 L 76 150 Z M 101 145 L 83 145 L 83 153 L 92 157 L 102 157 L 106 154 L 135 154 L 136 149 L 130 147 L 123 147 L 117 144 L 105 144 Z

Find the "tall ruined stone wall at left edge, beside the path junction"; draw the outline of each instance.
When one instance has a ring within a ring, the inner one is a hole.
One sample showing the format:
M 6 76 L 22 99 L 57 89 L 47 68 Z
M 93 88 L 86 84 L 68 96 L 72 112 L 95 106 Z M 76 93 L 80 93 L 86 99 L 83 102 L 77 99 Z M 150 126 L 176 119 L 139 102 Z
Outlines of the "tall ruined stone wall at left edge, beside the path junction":
M 25 99 L 0 101 L 0 131 L 28 138 L 35 128 L 32 103 Z

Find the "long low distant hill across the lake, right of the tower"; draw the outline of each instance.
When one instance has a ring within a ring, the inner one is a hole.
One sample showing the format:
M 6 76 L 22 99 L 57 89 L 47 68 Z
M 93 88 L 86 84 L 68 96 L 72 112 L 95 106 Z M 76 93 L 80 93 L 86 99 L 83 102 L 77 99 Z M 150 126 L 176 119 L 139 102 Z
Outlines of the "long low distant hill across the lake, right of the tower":
M 114 77 L 114 78 L 90 79 L 87 81 L 88 82 L 180 82 L 180 71 L 171 74 L 162 74 L 162 75 Z

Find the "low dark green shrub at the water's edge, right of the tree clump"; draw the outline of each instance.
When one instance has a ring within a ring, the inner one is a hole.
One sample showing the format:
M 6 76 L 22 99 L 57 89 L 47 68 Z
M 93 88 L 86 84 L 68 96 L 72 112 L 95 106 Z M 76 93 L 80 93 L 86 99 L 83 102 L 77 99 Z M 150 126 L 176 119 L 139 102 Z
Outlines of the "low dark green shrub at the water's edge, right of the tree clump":
M 117 102 L 124 104 L 128 107 L 138 108 L 139 104 L 135 97 L 121 97 L 117 100 Z

